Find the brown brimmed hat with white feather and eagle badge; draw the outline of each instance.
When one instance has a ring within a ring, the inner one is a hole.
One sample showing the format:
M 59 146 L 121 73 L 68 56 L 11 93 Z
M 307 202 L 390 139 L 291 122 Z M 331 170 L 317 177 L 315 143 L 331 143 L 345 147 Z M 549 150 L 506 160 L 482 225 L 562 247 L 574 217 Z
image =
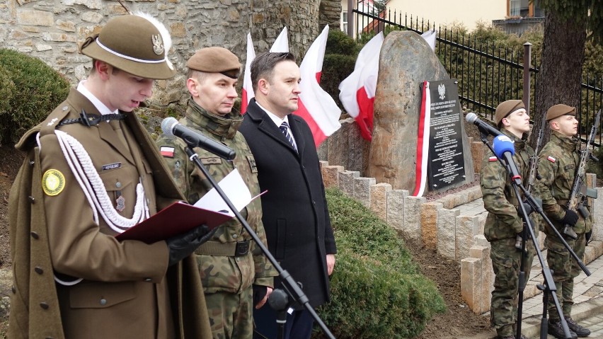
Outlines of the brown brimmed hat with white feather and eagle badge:
M 146 14 L 111 18 L 101 33 L 89 36 L 80 52 L 134 76 L 170 79 L 176 75 L 168 60 L 171 37 L 163 24 Z

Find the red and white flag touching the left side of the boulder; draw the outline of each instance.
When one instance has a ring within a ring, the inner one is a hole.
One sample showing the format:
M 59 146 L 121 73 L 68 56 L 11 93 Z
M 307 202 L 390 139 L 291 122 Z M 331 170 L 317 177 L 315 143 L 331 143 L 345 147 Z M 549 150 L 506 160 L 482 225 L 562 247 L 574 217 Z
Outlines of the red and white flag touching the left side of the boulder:
M 369 141 L 372 140 L 373 103 L 383 40 L 383 32 L 380 32 L 367 42 L 358 54 L 354 71 L 339 84 L 339 100 L 356 120 L 362 137 Z

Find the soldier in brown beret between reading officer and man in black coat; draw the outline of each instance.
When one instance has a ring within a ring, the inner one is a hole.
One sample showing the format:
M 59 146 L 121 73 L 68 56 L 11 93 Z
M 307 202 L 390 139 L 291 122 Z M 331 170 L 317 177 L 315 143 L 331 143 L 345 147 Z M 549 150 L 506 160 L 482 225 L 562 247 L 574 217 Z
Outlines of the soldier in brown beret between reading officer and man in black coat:
M 195 147 L 195 152 L 216 181 L 237 169 L 251 195 L 258 195 L 258 168 L 239 132 L 243 117 L 233 110 L 239 58 L 226 48 L 207 47 L 195 52 L 186 66 L 191 98 L 180 123 L 234 149 L 236 157 L 226 161 L 200 147 Z M 161 135 L 156 144 L 188 202 L 197 202 L 212 189 L 202 171 L 188 159 L 183 140 Z M 260 199 L 247 205 L 241 215 L 266 245 Z M 236 219 L 219 226 L 212 239 L 195 253 L 214 339 L 252 338 L 253 307 L 263 306 L 272 292 L 275 268 Z

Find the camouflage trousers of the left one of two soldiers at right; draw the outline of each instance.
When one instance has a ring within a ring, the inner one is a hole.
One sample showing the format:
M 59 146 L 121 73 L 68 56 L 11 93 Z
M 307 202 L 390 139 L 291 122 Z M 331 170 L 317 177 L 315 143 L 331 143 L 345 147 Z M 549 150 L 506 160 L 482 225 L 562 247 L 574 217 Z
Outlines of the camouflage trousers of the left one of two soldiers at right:
M 522 263 L 522 251 L 515 248 L 515 238 L 497 239 L 490 242 L 490 259 L 494 269 L 494 290 L 490 300 L 490 324 L 500 337 L 515 334 L 517 322 L 517 299 L 519 289 L 519 270 Z M 526 243 L 524 256 L 525 281 L 529 278 L 534 259 L 534 243 Z M 524 281 L 524 284 L 525 284 Z M 525 285 L 524 285 L 525 287 Z

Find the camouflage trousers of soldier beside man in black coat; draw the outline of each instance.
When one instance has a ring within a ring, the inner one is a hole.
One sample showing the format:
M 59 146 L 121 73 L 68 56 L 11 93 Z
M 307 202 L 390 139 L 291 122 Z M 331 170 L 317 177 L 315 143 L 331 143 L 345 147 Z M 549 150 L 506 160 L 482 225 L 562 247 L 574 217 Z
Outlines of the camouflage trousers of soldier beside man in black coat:
M 253 337 L 253 289 L 241 293 L 205 294 L 213 339 L 251 339 Z

